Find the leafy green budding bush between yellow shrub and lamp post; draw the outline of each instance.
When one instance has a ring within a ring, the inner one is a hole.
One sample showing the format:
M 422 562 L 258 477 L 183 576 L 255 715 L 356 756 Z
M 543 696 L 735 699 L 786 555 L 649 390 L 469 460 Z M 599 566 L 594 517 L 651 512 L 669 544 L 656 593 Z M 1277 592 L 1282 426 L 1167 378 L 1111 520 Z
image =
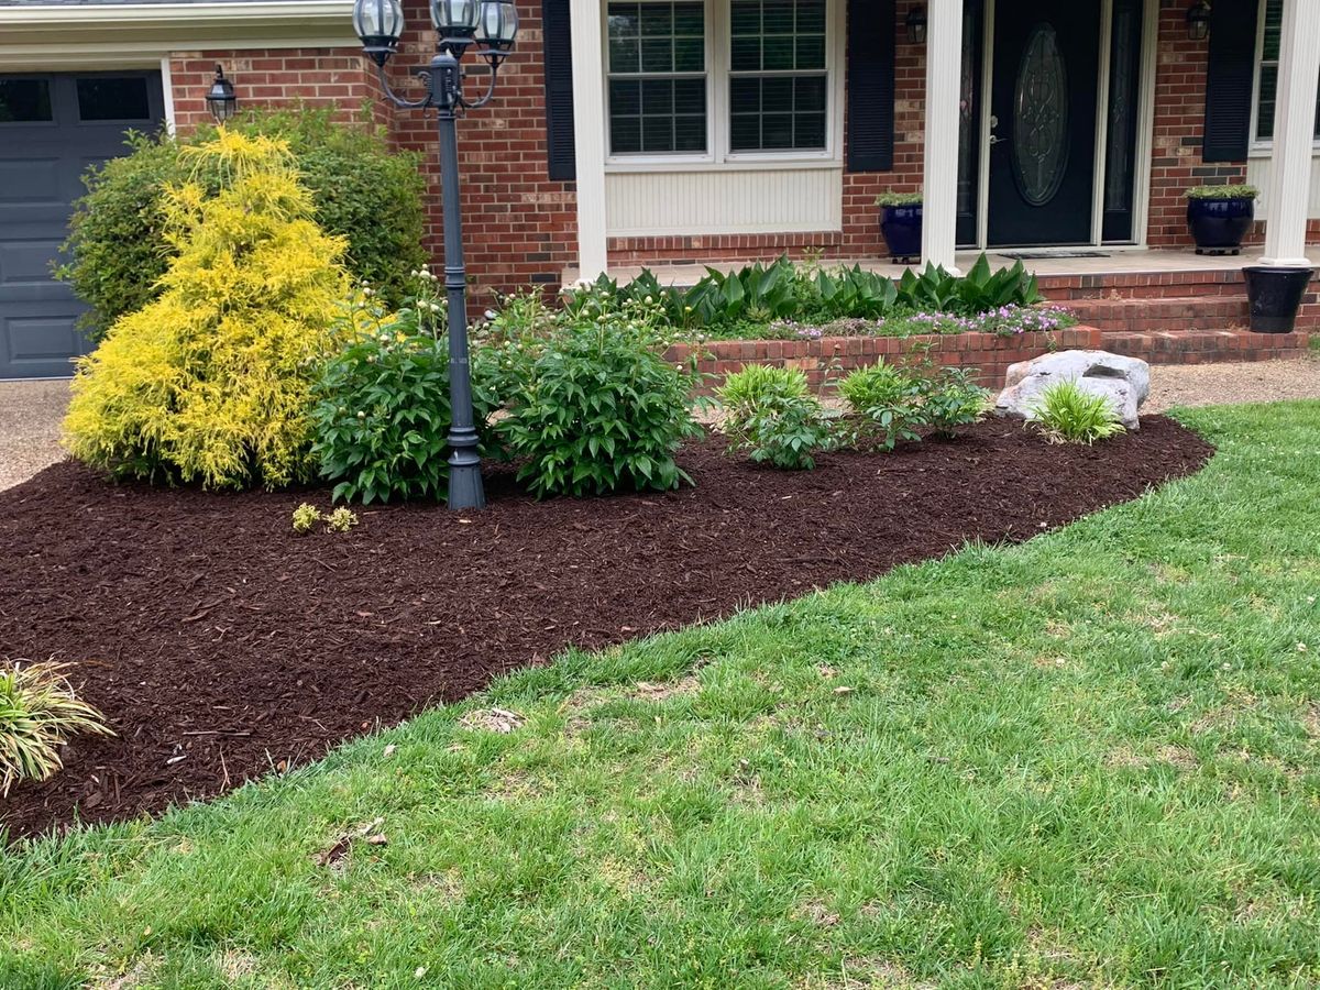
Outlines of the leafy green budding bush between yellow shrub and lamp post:
M 449 337 L 424 276 L 397 313 L 358 298 L 347 346 L 326 362 L 312 409 L 313 455 L 334 499 L 433 499 L 449 492 Z M 492 364 L 474 351 L 473 405 L 484 437 Z

